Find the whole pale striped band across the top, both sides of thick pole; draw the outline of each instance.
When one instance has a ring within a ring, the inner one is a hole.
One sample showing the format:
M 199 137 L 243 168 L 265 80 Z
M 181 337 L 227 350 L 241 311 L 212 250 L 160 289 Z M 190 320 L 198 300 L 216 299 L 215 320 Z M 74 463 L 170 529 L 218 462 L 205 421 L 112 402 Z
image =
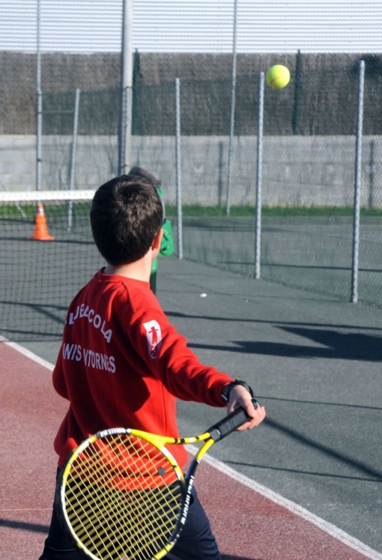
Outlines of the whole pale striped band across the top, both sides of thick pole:
M 382 52 L 381 0 L 237 0 L 237 52 Z M 119 52 L 123 0 L 40 0 L 41 50 Z M 1 0 L 0 50 L 36 50 L 37 0 Z M 134 0 L 133 48 L 231 52 L 234 0 Z

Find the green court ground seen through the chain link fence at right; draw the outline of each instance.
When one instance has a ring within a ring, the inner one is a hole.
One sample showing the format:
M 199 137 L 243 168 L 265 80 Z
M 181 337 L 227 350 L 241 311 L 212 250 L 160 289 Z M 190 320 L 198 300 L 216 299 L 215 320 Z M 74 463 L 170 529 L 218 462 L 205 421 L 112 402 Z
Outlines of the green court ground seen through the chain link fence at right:
M 307 210 L 307 209 L 306 209 Z M 382 305 L 382 216 L 360 218 L 358 298 Z M 254 216 L 185 216 L 185 258 L 255 273 Z M 350 214 L 285 214 L 264 212 L 260 274 L 289 286 L 351 298 L 353 216 Z

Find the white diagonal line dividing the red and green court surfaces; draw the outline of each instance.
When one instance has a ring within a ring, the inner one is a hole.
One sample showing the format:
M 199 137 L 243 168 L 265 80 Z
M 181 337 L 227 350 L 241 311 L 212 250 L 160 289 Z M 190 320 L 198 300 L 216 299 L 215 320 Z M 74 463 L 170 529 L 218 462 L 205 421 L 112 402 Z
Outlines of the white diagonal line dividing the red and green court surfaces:
M 1 341 L 1 337 L 0 337 L 0 341 Z M 6 339 L 3 339 L 3 341 L 4 341 L 3 344 L 8 344 L 8 346 L 17 350 L 17 352 L 20 352 L 27 358 L 34 360 L 34 362 L 42 365 L 43 367 L 46 367 L 50 371 L 53 370 L 54 365 L 47 362 L 46 360 L 43 360 L 43 358 L 36 356 L 35 353 L 27 350 L 23 346 L 20 346 L 20 344 L 17 344 L 16 342 L 6 342 Z M 188 451 L 190 451 L 190 453 L 196 454 L 197 447 L 195 447 L 194 445 L 186 445 L 186 447 Z M 228 465 L 225 465 L 225 463 L 222 463 L 222 461 L 219 461 L 218 459 L 215 459 L 210 455 L 205 455 L 203 461 L 208 463 L 208 465 L 211 465 L 216 470 L 219 470 L 224 475 L 227 475 L 228 477 L 232 478 L 236 482 L 243 484 L 243 486 L 247 486 L 251 490 L 260 493 L 262 496 L 268 498 L 272 502 L 277 503 L 282 507 L 285 507 L 286 510 L 289 510 L 290 512 L 294 513 L 298 517 L 301 517 L 302 519 L 309 521 L 309 523 L 316 525 L 322 531 L 325 531 L 325 533 L 327 533 L 328 535 L 331 535 L 332 537 L 336 538 L 340 542 L 344 542 L 344 545 L 353 548 L 354 550 L 360 552 L 360 554 L 363 554 L 367 558 L 370 558 L 371 560 L 382 560 L 382 554 L 370 548 L 369 546 L 365 545 L 365 542 L 362 542 L 357 538 L 348 535 L 348 533 L 345 533 L 345 531 L 342 531 L 335 525 L 329 523 L 328 521 L 325 521 L 325 519 L 321 519 L 321 517 L 318 517 L 318 515 L 309 512 L 309 510 L 306 510 L 301 505 L 298 505 L 297 503 L 294 503 L 288 500 L 287 498 L 283 498 L 283 496 L 281 496 L 277 492 L 274 492 L 273 490 L 270 490 L 269 488 L 267 488 L 267 486 L 262 486 L 262 484 L 255 482 L 255 480 L 249 477 L 246 477 L 246 475 L 241 475 L 240 472 L 237 472 L 236 470 L 229 467 Z

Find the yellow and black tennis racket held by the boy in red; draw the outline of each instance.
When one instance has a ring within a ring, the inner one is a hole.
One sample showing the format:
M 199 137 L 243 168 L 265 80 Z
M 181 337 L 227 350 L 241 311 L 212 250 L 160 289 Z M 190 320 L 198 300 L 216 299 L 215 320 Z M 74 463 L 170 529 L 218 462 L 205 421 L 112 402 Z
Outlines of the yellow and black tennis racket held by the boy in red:
M 160 560 L 181 534 L 201 458 L 246 421 L 239 407 L 194 437 L 111 428 L 85 440 L 56 489 L 60 521 L 80 552 L 93 560 Z M 165 446 L 196 442 L 204 443 L 184 477 Z

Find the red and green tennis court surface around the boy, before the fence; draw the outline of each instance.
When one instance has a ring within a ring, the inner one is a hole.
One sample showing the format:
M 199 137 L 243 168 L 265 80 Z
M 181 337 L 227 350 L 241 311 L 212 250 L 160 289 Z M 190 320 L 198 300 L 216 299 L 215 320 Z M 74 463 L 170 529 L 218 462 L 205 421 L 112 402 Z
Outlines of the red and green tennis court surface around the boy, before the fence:
M 382 559 L 381 309 L 160 261 L 158 297 L 206 363 L 247 379 L 268 419 L 211 451 L 197 489 L 225 560 Z M 38 558 L 50 520 L 59 341 L 0 344 L 2 560 Z M 182 435 L 221 411 L 179 403 Z

